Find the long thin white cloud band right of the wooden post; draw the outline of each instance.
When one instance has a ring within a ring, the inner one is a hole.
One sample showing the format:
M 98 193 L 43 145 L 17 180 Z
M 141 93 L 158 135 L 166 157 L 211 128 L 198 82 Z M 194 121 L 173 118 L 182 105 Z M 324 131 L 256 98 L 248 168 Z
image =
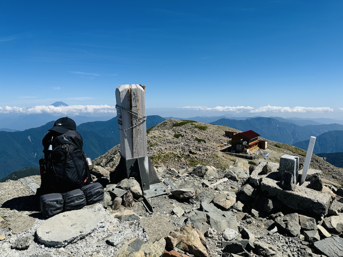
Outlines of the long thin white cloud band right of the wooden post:
M 250 106 L 237 106 L 237 107 L 229 107 L 229 106 L 217 106 L 217 107 L 205 107 L 205 106 L 185 106 L 182 108 L 186 108 L 189 110 L 205 110 L 205 111 L 221 111 L 221 112 L 234 112 L 239 113 L 243 111 L 248 111 L 248 113 L 264 113 L 264 112 L 333 112 L 333 109 L 330 107 L 279 107 L 279 106 L 261 106 L 258 108 L 253 108 Z M 340 108 L 343 110 L 343 108 Z

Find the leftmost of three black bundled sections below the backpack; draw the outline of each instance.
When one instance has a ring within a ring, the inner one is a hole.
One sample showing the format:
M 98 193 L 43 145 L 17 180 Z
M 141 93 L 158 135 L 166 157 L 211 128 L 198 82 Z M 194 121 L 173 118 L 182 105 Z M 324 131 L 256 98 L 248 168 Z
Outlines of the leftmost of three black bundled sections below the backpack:
M 63 211 L 62 194 L 51 193 L 40 196 L 39 207 L 44 217 L 51 217 Z

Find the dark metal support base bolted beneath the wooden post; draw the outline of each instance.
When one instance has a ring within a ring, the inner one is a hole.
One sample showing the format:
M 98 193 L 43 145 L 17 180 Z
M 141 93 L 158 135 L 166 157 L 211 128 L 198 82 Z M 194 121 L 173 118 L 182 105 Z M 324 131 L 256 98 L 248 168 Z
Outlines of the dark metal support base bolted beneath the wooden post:
M 144 198 L 143 205 L 149 213 L 152 213 L 153 210 L 146 198 L 165 195 L 170 192 L 159 182 L 157 173 L 148 156 L 133 159 L 120 157 L 118 166 L 110 174 L 110 181 L 117 184 L 123 179 L 129 178 L 134 178 L 141 185 Z

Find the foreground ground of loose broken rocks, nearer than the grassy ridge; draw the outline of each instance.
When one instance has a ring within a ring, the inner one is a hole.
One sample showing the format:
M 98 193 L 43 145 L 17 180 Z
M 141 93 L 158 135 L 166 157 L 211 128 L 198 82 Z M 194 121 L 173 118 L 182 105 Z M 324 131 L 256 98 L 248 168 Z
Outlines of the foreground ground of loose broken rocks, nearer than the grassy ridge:
M 0 256 L 342 257 L 342 189 L 322 184 L 321 171 L 313 169 L 299 186 L 301 170 L 280 172 L 282 165 L 260 160 L 251 169 L 237 160 L 226 170 L 158 167 L 171 193 L 149 198 L 152 214 L 141 203 L 139 183 L 124 179 L 105 185 L 104 200 L 81 210 L 47 220 L 25 211 L 35 219 L 25 231 L 14 233 L 6 216 Z M 106 181 L 108 170 L 95 170 Z

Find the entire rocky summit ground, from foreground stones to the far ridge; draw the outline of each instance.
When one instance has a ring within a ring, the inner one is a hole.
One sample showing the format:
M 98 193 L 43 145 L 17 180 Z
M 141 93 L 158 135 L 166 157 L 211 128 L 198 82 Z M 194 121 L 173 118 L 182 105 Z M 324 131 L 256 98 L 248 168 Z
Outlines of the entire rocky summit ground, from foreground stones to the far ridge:
M 248 159 L 227 154 L 227 130 L 237 131 L 175 119 L 148 130 L 148 154 L 171 192 L 148 198 L 152 214 L 133 179 L 49 219 L 34 206 L 39 176 L 0 183 L 0 256 L 343 256 L 342 169 L 313 155 L 305 183 L 284 190 L 280 157 L 303 163 L 306 152 L 268 141 Z M 106 181 L 119 159 L 115 146 L 93 160 L 94 180 Z

